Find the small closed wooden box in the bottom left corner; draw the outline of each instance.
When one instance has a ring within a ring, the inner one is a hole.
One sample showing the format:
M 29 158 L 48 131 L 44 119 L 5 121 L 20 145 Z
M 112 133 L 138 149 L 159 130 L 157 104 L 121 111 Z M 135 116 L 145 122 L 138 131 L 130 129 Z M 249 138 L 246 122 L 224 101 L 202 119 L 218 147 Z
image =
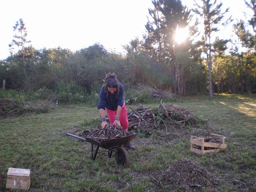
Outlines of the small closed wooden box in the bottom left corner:
M 30 170 L 9 168 L 6 178 L 6 189 L 29 189 Z

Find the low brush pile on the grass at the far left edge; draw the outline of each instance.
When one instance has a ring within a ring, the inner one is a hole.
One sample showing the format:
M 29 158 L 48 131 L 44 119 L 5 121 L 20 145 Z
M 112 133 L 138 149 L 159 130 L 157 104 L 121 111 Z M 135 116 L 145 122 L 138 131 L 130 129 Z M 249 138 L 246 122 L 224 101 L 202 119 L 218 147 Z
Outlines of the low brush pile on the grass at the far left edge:
M 15 99 L 0 100 L 0 118 L 19 116 L 25 113 L 45 113 L 50 110 L 48 102 L 20 102 Z

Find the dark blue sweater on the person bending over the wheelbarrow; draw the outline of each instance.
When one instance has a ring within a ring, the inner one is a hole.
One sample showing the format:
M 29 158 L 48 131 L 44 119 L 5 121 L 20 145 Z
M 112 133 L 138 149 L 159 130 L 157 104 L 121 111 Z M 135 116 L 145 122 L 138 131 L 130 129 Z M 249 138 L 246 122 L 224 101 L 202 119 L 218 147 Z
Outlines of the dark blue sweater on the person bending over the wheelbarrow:
M 110 110 L 117 110 L 117 106 L 123 106 L 124 105 L 124 86 L 119 83 L 119 95 L 116 97 L 116 93 L 107 94 L 105 92 L 104 86 L 100 89 L 100 99 L 98 102 L 98 109 L 110 109 Z

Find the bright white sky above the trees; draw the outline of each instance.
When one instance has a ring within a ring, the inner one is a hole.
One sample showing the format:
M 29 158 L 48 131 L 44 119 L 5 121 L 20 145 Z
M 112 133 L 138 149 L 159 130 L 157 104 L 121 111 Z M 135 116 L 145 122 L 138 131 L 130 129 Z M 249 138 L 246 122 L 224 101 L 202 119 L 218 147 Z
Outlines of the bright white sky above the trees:
M 192 8 L 193 0 L 182 0 Z M 244 0 L 222 0 L 230 8 L 234 20 L 252 14 Z M 41 48 L 68 48 L 71 51 L 95 43 L 106 49 L 124 52 L 122 45 L 146 33 L 151 0 L 2 0 L 0 1 L 0 60 L 10 56 L 13 26 L 20 18 L 27 28 L 27 40 Z M 219 32 L 220 38 L 230 38 L 232 25 Z

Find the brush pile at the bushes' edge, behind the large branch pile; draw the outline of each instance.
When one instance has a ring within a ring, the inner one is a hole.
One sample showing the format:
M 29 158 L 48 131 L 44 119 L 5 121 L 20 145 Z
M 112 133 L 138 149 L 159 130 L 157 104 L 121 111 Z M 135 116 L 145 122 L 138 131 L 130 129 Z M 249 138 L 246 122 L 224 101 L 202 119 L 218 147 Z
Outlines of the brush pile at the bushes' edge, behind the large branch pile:
M 135 93 L 146 92 L 152 98 L 158 99 L 173 99 L 175 94 L 171 90 L 160 90 L 158 88 L 153 88 L 152 86 L 139 84 L 134 91 Z

